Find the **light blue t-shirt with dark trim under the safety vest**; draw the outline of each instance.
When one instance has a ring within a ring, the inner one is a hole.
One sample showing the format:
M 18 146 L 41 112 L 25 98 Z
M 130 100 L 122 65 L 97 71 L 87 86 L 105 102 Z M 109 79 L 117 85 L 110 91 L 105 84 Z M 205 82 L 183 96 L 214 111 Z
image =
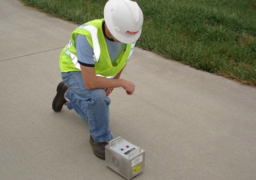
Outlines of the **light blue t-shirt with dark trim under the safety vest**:
M 104 34 L 104 22 L 102 23 L 102 30 Z M 121 52 L 126 49 L 127 44 L 115 42 L 113 39 L 107 38 L 105 34 L 104 37 L 110 60 L 114 64 Z M 84 35 L 77 34 L 75 36 L 75 48 L 78 63 L 84 66 L 94 67 L 93 49 Z

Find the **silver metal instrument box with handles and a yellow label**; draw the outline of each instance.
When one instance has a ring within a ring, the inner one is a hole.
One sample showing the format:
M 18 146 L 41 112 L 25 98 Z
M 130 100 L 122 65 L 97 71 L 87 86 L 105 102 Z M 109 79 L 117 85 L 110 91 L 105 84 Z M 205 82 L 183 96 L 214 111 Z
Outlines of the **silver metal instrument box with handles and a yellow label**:
M 145 151 L 118 137 L 105 146 L 105 164 L 129 180 L 144 171 Z

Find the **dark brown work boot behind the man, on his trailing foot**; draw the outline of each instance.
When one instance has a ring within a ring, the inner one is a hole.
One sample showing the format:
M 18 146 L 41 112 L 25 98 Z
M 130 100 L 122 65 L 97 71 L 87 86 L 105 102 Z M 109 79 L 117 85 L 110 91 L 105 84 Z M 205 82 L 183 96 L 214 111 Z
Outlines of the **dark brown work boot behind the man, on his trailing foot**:
M 57 94 L 52 101 L 52 109 L 53 111 L 59 112 L 62 109 L 62 106 L 66 103 L 64 98 L 64 94 L 67 90 L 67 86 L 64 82 L 60 82 L 57 86 Z

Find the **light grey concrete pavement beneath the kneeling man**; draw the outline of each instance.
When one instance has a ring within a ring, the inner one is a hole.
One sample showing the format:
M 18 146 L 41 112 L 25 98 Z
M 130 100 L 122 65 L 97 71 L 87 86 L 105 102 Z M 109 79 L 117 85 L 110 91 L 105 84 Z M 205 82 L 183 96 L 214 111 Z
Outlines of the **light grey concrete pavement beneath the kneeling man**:
M 87 124 L 51 109 L 76 25 L 0 1 L 0 180 L 123 180 L 96 158 Z M 134 180 L 255 180 L 256 89 L 135 49 L 110 95 L 111 130 L 146 151 Z

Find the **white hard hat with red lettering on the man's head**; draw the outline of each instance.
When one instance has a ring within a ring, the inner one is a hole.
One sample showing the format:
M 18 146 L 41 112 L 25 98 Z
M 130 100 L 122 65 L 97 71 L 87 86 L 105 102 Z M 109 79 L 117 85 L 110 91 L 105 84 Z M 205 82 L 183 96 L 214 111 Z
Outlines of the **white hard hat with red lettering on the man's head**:
M 108 0 L 104 20 L 114 38 L 128 44 L 135 42 L 141 34 L 143 13 L 134 1 Z

